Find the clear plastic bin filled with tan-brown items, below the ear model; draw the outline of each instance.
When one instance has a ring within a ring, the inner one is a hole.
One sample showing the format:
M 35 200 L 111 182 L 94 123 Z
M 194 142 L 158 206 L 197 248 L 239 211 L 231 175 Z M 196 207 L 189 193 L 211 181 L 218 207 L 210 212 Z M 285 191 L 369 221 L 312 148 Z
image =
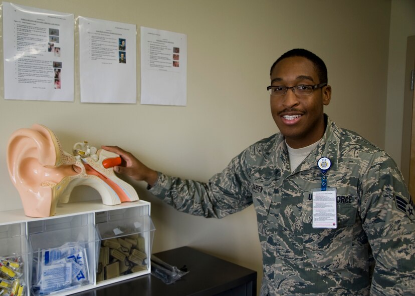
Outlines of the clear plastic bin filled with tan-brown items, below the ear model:
M 97 283 L 109 283 L 150 272 L 154 225 L 149 207 L 95 213 L 101 239 Z

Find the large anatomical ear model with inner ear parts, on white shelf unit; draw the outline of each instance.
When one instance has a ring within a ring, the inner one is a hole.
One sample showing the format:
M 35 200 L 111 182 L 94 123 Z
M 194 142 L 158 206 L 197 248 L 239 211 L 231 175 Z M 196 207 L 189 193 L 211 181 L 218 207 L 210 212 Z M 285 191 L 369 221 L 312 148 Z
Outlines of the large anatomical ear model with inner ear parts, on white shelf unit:
M 53 216 L 58 201 L 67 203 L 79 185 L 96 189 L 106 205 L 138 200 L 134 188 L 113 172 L 120 163 L 119 155 L 87 142 L 67 153 L 55 134 L 39 124 L 15 131 L 7 150 L 10 177 L 30 217 Z

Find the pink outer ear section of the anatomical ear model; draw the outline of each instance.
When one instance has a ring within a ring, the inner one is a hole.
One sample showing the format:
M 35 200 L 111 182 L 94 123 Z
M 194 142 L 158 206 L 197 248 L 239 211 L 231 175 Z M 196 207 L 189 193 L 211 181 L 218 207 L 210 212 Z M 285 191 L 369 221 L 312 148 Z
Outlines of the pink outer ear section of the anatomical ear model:
M 64 188 L 58 184 L 64 185 L 68 178 L 79 174 L 75 163 L 75 157 L 61 149 L 58 139 L 45 126 L 35 124 L 11 135 L 7 165 L 27 216 L 55 214 L 59 193 Z

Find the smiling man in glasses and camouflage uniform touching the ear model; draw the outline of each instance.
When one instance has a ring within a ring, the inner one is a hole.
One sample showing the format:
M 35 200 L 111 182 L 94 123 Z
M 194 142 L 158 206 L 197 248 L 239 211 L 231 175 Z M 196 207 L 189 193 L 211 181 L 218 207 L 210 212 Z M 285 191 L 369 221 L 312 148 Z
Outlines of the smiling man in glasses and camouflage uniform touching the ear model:
M 153 171 L 130 153 L 115 167 L 176 209 L 222 218 L 252 203 L 266 295 L 415 294 L 415 207 L 393 160 L 323 113 L 331 87 L 323 61 L 292 50 L 271 68 L 271 111 L 280 130 L 235 157 L 208 183 Z M 318 160 L 336 188 L 336 228 L 313 228 Z

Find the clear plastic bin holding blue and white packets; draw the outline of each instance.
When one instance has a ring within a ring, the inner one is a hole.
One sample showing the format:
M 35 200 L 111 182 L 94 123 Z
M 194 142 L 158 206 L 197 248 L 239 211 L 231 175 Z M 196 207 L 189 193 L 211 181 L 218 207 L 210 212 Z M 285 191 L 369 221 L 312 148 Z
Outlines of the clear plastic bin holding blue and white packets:
M 95 283 L 99 237 L 93 214 L 28 222 L 31 295 L 72 293 Z

